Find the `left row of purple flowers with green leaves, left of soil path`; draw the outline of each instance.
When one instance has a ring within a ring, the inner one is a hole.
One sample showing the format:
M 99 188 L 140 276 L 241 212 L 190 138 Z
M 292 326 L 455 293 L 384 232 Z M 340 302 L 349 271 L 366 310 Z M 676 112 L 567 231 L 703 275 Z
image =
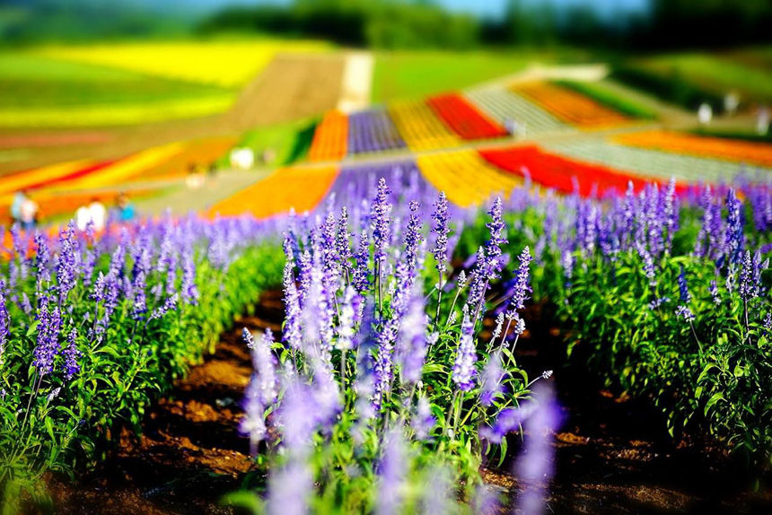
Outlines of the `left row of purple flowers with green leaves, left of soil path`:
M 275 224 L 11 229 L 0 262 L 0 492 L 88 462 L 280 276 Z M 0 232 L 4 235 L 4 231 Z M 3 240 L 3 239 L 0 239 Z

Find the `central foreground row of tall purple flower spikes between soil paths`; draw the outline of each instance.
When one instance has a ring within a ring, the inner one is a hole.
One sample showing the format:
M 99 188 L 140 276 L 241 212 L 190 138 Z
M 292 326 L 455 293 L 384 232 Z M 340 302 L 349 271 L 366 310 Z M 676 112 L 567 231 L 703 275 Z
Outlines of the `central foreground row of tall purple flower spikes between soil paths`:
M 501 500 L 482 483 L 480 460 L 505 451 L 522 422 L 534 435 L 526 478 L 549 473 L 542 430 L 559 414 L 548 386 L 533 387 L 551 372 L 529 379 L 513 354 L 530 249 L 482 341 L 487 297 L 506 264 L 502 202 L 484 216 L 478 259 L 456 275 L 452 207 L 419 177 L 373 170 L 362 183 L 377 181 L 372 200 L 341 183 L 326 209 L 289 223 L 281 341 L 245 333 L 255 374 L 241 430 L 259 456 L 257 476 L 268 476 L 259 512 L 494 513 Z M 459 493 L 471 505 L 456 502 Z M 521 502 L 535 512 L 541 495 Z

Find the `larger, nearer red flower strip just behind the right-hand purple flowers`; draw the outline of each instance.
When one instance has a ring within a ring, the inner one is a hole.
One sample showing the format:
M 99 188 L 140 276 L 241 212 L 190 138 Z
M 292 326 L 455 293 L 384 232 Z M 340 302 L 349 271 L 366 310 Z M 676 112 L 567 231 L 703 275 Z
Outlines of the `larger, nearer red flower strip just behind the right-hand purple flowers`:
M 636 190 L 652 182 L 651 178 L 547 153 L 536 145 L 480 150 L 479 153 L 502 170 L 529 177 L 563 193 L 574 193 L 578 189 L 581 196 L 603 196 L 612 191 L 624 192 L 628 182 L 632 182 Z M 682 191 L 684 187 L 677 189 Z

